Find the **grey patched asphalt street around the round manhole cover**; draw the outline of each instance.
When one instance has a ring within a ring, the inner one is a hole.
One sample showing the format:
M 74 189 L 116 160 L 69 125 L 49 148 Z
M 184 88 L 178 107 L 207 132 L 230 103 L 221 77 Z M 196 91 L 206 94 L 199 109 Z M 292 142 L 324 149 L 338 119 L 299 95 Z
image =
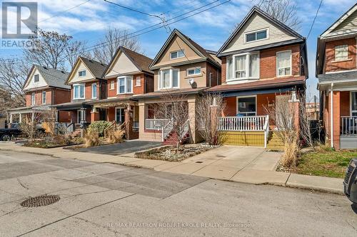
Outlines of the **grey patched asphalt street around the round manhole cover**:
M 49 206 L 23 207 L 53 194 Z M 345 196 L 0 151 L 0 236 L 357 236 Z

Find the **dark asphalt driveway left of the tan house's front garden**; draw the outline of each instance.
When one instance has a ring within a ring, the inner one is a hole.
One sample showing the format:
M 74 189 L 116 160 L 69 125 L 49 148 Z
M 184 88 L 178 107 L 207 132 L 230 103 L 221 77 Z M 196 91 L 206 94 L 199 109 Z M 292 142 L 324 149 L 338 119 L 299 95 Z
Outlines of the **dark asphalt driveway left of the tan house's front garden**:
M 124 155 L 134 152 L 140 152 L 145 149 L 160 147 L 161 142 L 146 142 L 146 141 L 130 141 L 118 144 L 108 144 L 99 147 L 89 147 L 76 149 L 76 152 L 90 152 L 96 154 L 111 154 L 111 155 Z M 131 155 L 133 157 L 133 155 Z

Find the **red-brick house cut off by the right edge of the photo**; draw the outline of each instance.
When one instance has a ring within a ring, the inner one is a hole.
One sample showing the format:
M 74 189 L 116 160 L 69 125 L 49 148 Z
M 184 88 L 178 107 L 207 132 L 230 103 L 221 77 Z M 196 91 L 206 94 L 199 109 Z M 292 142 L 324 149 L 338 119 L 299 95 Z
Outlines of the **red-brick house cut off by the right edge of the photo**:
M 357 4 L 318 37 L 316 77 L 326 142 L 357 147 Z

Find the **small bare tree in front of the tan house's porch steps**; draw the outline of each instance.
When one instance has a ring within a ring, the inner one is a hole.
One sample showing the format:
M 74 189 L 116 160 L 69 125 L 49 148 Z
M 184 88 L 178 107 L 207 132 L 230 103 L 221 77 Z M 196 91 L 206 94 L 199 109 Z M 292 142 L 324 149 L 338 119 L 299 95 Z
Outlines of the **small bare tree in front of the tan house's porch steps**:
M 186 135 L 189 133 L 189 123 L 191 118 L 188 116 L 188 102 L 186 95 L 164 93 L 160 103 L 154 105 L 155 117 L 168 119 L 169 122 L 163 127 L 163 134 L 176 137 L 177 152 L 180 149 Z M 165 139 L 165 137 L 164 137 Z

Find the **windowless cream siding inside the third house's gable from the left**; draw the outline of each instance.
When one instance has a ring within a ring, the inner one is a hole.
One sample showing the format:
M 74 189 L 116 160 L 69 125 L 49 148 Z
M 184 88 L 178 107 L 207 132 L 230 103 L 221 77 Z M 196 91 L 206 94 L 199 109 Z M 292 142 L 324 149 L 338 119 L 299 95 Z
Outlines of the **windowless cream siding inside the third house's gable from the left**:
M 107 73 L 105 76 L 111 77 L 113 75 L 124 75 L 138 72 L 139 69 L 136 68 L 136 65 L 131 62 L 125 53 L 119 53 L 119 56 L 117 56 L 113 65 L 111 66 L 111 70 L 109 70 L 109 73 Z

